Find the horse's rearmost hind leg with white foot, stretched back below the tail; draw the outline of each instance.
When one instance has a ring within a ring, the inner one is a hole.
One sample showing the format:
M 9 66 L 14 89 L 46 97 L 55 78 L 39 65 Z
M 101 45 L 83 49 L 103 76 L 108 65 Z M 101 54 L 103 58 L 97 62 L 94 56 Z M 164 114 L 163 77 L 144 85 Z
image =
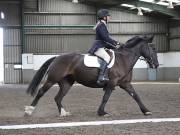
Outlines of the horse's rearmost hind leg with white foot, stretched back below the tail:
M 52 82 L 46 81 L 44 85 L 39 89 L 38 94 L 31 103 L 31 106 L 25 106 L 25 115 L 31 115 L 37 105 L 39 99 L 53 86 Z

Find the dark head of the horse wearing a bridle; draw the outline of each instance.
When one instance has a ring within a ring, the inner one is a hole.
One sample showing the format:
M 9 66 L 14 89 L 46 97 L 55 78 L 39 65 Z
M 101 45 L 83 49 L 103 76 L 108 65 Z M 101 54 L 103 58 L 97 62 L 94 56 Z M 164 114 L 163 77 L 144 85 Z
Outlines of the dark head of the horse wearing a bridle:
M 141 48 L 141 55 L 145 58 L 150 68 L 157 68 L 159 66 L 157 51 L 155 45 L 152 43 L 154 36 L 144 36 L 143 46 Z

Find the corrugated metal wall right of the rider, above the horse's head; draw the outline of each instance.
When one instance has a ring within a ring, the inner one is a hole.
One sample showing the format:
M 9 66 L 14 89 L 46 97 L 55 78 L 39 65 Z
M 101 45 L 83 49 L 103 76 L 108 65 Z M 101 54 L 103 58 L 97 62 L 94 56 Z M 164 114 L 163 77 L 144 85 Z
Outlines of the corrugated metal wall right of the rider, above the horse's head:
M 138 16 L 136 14 L 110 10 L 112 22 L 109 24 L 110 33 L 119 41 L 125 42 L 135 35 L 154 34 L 154 43 L 159 52 L 166 52 L 168 45 L 168 23 L 162 18 Z M 113 21 L 114 20 L 114 21 Z

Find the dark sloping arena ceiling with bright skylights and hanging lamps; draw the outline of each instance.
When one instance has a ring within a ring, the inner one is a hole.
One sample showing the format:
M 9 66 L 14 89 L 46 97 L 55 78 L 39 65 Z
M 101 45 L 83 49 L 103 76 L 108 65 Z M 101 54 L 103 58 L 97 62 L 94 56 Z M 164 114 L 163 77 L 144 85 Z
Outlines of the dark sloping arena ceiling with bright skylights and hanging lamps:
M 68 0 L 70 1 L 70 0 Z M 132 12 L 161 15 L 180 20 L 180 0 L 71 0 L 99 7 L 119 7 Z M 141 13 L 140 13 L 141 14 Z

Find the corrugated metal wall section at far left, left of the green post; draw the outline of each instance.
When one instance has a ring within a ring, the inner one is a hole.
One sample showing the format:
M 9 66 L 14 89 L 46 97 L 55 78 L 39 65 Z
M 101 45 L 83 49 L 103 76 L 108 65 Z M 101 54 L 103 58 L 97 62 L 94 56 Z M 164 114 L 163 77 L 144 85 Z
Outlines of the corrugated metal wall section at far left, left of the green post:
M 0 9 L 5 14 L 5 19 L 0 21 L 0 27 L 4 29 L 4 82 L 21 83 L 22 71 L 14 68 L 14 65 L 21 65 L 20 2 L 1 2 Z

